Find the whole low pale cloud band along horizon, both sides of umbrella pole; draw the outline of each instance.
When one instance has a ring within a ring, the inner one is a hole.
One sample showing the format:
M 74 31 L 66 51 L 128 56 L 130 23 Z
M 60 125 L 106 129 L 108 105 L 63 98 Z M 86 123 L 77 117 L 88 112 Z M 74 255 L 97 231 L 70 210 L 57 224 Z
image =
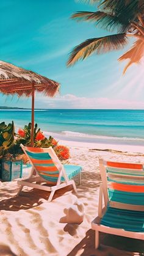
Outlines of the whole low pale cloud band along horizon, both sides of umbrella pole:
M 1 106 L 17 106 L 31 108 L 31 98 L 18 98 L 12 96 L 1 97 Z M 35 95 L 35 108 L 44 109 L 144 109 L 144 101 L 111 99 L 108 97 L 77 97 L 73 94 L 58 95 L 49 98 L 37 93 Z

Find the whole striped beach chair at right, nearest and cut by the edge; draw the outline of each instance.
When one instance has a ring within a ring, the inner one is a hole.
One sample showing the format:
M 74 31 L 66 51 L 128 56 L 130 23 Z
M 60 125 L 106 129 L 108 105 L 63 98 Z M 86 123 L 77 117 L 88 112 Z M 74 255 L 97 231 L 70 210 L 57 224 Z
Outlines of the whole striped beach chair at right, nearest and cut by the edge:
M 102 184 L 98 217 L 92 221 L 96 249 L 99 232 L 144 240 L 143 164 L 99 159 L 99 168 Z

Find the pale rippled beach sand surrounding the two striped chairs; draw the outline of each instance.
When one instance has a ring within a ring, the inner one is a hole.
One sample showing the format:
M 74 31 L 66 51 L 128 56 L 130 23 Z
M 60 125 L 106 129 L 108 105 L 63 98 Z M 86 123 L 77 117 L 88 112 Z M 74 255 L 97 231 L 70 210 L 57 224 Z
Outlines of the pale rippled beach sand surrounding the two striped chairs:
M 104 234 L 101 235 L 101 247 L 95 250 L 95 234 L 90 229 L 90 222 L 98 211 L 101 182 L 98 155 L 106 159 L 136 163 L 144 163 L 144 156 L 137 153 L 88 150 L 88 147 L 78 147 L 78 143 L 75 145 L 76 147 L 70 147 L 71 158 L 67 163 L 83 167 L 77 196 L 71 192 L 71 187 L 60 189 L 56 192 L 54 200 L 48 203 L 49 192 L 25 187 L 21 196 L 15 196 L 18 191 L 16 181 L 1 183 L 0 255 L 126 256 L 137 255 L 134 252 L 144 252 L 142 241 Z M 96 145 L 88 146 L 97 148 Z M 115 148 L 121 150 L 119 145 Z M 141 152 L 141 149 L 135 148 L 132 151 Z M 84 221 L 80 225 L 62 223 L 65 208 L 73 206 L 77 197 L 79 202 L 84 204 Z

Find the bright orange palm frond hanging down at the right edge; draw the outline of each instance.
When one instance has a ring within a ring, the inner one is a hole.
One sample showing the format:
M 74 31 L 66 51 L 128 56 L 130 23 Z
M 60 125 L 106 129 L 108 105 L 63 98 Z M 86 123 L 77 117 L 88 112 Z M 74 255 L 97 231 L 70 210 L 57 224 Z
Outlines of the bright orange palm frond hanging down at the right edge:
M 131 49 L 126 51 L 126 53 L 124 53 L 118 59 L 119 61 L 129 59 L 128 64 L 123 70 L 123 74 L 126 72 L 128 67 L 130 67 L 132 64 L 139 63 L 143 56 L 144 56 L 144 43 L 142 40 L 139 39 L 136 42 L 134 42 Z

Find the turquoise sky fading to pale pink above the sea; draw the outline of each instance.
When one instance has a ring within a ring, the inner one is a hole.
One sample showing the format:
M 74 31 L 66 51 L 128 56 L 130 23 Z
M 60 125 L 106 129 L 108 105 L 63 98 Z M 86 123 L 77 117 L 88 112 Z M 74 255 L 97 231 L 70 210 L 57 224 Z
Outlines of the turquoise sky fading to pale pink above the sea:
M 35 108 L 144 109 L 143 67 L 132 65 L 123 76 L 120 51 L 96 55 L 67 68 L 68 54 L 88 38 L 110 34 L 93 23 L 77 23 L 70 16 L 79 10 L 95 11 L 77 0 L 1 0 L 0 54 L 10 62 L 60 82 L 60 94 L 35 95 Z M 112 33 L 111 33 L 112 34 Z M 0 106 L 31 108 L 31 98 L 0 94 Z

